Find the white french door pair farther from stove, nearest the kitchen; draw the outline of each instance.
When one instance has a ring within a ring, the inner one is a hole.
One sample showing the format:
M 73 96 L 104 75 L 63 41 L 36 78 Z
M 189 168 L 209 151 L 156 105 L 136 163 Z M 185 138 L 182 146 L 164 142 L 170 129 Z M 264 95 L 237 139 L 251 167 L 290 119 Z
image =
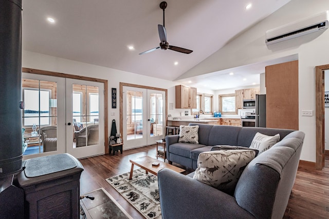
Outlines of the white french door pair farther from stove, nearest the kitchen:
M 123 148 L 154 144 L 165 137 L 166 92 L 123 86 Z

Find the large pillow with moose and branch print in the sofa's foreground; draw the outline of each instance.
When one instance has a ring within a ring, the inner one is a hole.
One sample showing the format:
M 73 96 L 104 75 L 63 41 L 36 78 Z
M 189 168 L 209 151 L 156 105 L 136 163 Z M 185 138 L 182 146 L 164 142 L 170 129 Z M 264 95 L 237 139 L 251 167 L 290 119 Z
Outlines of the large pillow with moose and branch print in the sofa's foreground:
M 255 157 L 253 150 L 220 150 L 199 154 L 193 178 L 233 194 L 243 170 Z

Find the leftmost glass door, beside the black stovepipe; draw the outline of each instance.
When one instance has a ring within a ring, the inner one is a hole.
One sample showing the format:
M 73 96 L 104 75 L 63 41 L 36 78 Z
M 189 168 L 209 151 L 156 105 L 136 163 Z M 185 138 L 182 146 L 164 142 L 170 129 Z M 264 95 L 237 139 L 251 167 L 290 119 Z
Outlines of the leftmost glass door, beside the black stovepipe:
M 45 80 L 48 79 L 48 80 Z M 23 74 L 22 97 L 25 108 L 22 112 L 22 134 L 24 158 L 42 156 L 43 153 L 64 152 L 59 147 L 58 136 L 58 83 L 63 86 L 62 78 L 51 76 L 36 77 Z M 62 92 L 62 91 L 59 91 Z M 59 103 L 61 104 L 61 103 Z

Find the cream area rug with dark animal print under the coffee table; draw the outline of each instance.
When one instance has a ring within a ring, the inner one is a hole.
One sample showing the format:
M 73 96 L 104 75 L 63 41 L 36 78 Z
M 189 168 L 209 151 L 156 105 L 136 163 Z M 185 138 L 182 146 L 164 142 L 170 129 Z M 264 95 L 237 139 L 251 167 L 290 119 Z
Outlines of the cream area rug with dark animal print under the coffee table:
M 130 172 L 123 173 L 106 181 L 146 218 L 162 218 L 158 177 L 143 169 L 134 170 L 132 180 L 129 175 Z

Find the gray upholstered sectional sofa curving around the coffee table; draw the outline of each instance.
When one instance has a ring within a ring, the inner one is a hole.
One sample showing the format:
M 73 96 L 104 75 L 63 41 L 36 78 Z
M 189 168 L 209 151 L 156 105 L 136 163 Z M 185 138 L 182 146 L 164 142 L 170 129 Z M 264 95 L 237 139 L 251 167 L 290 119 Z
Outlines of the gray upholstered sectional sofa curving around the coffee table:
M 158 172 L 162 218 L 282 218 L 293 188 L 304 140 L 301 131 L 234 126 L 199 126 L 199 144 L 166 136 L 170 162 L 196 168 L 200 152 L 215 145 L 249 147 L 255 133 L 280 134 L 280 142 L 256 156 L 244 169 L 234 194 L 169 169 Z

